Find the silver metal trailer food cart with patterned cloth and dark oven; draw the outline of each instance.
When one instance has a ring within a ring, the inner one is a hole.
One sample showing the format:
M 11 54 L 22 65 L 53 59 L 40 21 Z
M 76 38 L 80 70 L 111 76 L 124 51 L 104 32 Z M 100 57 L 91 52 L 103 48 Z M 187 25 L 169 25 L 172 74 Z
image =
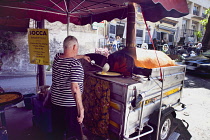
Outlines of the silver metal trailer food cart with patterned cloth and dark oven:
M 130 68 L 121 67 L 117 75 L 103 75 L 100 69 L 94 70 L 94 66 L 85 67 L 85 127 L 103 138 L 132 140 L 147 135 L 155 139 L 161 110 L 159 139 L 167 139 L 175 127 L 176 111 L 185 109 L 181 102 L 185 66 L 162 67 L 161 70 L 139 68 L 127 54 L 118 53 L 110 55 L 107 61 L 115 61 L 114 65 L 109 64 L 110 70 L 117 73 L 116 63 L 120 66 L 127 63 L 125 66 Z

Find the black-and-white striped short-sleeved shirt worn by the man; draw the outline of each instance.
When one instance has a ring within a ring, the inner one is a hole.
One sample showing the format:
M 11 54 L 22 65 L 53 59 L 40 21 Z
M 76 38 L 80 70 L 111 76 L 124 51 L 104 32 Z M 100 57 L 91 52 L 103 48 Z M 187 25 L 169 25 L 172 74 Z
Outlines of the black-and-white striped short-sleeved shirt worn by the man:
M 52 67 L 52 103 L 59 106 L 76 106 L 72 96 L 71 83 L 78 83 L 83 92 L 84 71 L 79 60 L 75 58 L 60 58 L 56 54 Z

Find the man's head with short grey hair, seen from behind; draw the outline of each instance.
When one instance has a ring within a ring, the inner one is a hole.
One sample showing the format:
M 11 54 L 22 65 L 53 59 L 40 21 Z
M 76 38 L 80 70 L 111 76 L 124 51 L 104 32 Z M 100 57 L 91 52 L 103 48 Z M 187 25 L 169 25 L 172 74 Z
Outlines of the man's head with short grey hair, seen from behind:
M 74 55 L 78 54 L 78 41 L 74 36 L 67 36 L 63 41 L 64 53 L 72 53 Z

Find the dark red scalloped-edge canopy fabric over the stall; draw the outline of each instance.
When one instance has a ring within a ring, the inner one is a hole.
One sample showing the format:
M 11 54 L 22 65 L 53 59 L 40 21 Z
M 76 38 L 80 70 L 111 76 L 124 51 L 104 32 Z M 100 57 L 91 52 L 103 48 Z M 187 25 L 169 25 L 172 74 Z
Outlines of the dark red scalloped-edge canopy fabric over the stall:
M 71 23 L 86 25 L 126 18 L 127 2 L 139 4 L 145 19 L 152 22 L 188 14 L 186 0 L 0 0 L 0 17 L 46 19 L 66 24 L 70 15 Z

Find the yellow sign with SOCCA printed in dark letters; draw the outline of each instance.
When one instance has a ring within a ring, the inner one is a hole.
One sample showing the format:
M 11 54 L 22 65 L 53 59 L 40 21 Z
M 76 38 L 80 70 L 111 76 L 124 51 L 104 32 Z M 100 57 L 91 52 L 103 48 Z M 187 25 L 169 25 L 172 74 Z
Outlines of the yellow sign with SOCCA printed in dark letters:
M 28 29 L 30 63 L 50 65 L 48 29 Z

